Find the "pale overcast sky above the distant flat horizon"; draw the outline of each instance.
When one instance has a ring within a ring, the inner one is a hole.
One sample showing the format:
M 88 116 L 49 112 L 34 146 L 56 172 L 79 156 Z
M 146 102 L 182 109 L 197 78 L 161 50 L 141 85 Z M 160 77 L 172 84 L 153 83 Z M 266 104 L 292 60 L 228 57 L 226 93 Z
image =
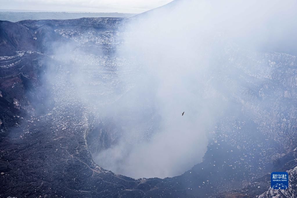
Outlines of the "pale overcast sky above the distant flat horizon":
M 172 0 L 0 0 L 0 9 L 141 13 Z

